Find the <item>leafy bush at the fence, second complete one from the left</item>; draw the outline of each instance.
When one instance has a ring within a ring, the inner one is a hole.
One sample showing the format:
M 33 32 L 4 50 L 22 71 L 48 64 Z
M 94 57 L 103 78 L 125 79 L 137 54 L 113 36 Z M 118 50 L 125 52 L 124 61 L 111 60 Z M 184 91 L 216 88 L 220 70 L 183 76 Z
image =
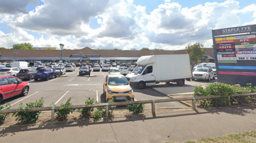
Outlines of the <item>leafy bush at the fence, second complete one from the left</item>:
M 68 114 L 73 113 L 75 110 L 71 108 L 73 103 L 71 103 L 71 98 L 67 99 L 66 103 L 61 103 L 61 107 L 59 110 L 55 110 L 54 112 L 57 114 L 56 118 L 58 121 L 64 121 L 67 119 Z M 52 107 L 55 107 L 55 104 L 52 102 L 51 104 Z

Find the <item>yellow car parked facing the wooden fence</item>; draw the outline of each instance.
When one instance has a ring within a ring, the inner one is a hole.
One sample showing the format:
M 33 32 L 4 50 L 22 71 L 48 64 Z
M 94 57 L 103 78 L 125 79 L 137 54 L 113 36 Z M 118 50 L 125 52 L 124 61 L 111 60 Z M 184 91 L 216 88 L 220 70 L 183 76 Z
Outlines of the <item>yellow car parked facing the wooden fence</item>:
M 103 83 L 103 92 L 106 102 L 111 100 L 130 100 L 134 101 L 133 90 L 130 82 L 122 74 L 108 74 Z

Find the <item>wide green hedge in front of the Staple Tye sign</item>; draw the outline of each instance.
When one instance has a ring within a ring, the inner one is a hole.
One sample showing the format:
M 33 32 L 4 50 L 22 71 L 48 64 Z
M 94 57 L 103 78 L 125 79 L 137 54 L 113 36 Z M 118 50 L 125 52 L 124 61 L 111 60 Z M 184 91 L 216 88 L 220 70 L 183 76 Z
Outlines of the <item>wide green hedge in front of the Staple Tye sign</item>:
M 211 83 L 205 86 L 194 87 L 194 97 L 201 96 L 223 96 L 221 98 L 214 99 L 202 99 L 197 100 L 201 107 L 223 107 L 228 106 L 228 97 L 233 94 L 246 94 L 256 92 L 256 87 L 252 87 L 251 83 L 247 83 L 246 87 L 241 87 L 240 85 L 230 86 L 225 83 Z M 232 97 L 230 99 L 231 105 L 247 105 L 256 103 L 255 96 L 239 96 Z

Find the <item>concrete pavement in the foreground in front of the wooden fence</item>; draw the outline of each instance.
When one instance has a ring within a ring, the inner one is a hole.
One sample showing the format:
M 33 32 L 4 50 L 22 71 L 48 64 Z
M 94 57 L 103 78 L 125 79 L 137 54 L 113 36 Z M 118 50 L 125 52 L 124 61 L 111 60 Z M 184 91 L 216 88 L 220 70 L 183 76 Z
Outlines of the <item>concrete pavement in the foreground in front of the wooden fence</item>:
M 256 130 L 256 107 L 172 112 L 111 121 L 58 122 L 0 128 L 1 142 L 166 142 Z

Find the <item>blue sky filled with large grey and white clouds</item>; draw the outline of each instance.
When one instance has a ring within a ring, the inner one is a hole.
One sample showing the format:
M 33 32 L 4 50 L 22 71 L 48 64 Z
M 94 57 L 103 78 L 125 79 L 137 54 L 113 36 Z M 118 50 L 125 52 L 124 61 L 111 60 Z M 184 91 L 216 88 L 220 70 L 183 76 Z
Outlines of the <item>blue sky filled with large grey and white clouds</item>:
M 211 48 L 212 29 L 256 24 L 255 0 L 0 0 L 0 47 Z

